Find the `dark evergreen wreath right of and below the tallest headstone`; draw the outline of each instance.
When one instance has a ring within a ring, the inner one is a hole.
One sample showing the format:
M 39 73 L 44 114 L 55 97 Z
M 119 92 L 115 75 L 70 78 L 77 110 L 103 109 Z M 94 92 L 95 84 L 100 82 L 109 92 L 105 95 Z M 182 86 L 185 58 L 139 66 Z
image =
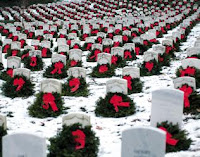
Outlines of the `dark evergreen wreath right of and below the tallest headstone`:
M 188 133 L 186 132 L 186 130 L 179 129 L 178 124 L 173 125 L 172 123 L 165 121 L 160 124 L 157 124 L 157 127 L 164 127 L 167 130 L 167 132 L 172 135 L 171 138 L 177 140 L 176 145 L 170 145 L 166 143 L 167 153 L 188 150 L 192 143 L 192 140 L 190 138 L 187 138 Z

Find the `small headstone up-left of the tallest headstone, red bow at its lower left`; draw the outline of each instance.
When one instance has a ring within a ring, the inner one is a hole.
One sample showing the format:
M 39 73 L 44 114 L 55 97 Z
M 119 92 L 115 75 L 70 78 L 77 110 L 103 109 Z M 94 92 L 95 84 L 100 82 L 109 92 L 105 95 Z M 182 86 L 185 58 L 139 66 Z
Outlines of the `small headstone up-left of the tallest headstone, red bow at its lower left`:
M 124 67 L 122 69 L 122 75 L 130 75 L 132 78 L 140 78 L 140 69 L 137 67 Z

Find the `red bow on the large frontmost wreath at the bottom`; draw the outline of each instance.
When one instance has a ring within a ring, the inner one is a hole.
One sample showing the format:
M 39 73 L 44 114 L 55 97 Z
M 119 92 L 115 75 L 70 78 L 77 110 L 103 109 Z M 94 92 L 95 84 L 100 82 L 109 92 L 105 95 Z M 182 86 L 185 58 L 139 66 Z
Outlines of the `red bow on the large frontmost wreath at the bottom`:
M 72 135 L 75 136 L 75 142 L 80 144 L 76 145 L 76 150 L 85 148 L 85 134 L 81 130 L 72 131 Z

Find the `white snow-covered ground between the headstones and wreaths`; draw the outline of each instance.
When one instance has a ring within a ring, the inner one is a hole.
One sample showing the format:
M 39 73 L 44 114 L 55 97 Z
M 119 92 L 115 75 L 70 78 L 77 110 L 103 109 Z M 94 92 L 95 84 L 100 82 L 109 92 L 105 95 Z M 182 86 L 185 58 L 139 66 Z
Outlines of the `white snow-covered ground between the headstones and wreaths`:
M 171 34 L 172 31 L 169 31 Z M 88 115 L 91 116 L 92 129 L 100 139 L 99 157 L 120 157 L 121 155 L 121 133 L 124 129 L 134 126 L 149 126 L 151 115 L 151 92 L 160 88 L 173 88 L 173 78 L 175 71 L 181 65 L 181 60 L 186 57 L 186 48 L 192 47 L 195 37 L 200 35 L 200 24 L 196 25 L 188 36 L 187 42 L 182 43 L 181 52 L 176 52 L 176 59 L 171 62 L 170 67 L 163 67 L 163 74 L 151 77 L 141 77 L 144 82 L 143 92 L 130 95 L 131 99 L 136 103 L 137 112 L 132 116 L 125 118 L 102 118 L 96 117 L 95 102 L 100 96 L 106 94 L 106 81 L 108 79 L 93 79 L 87 75 L 87 83 L 89 84 L 90 95 L 84 97 L 64 96 L 65 106 L 70 107 L 71 112 L 82 112 L 84 108 Z M 30 41 L 29 41 L 30 42 Z M 56 45 L 55 45 L 56 46 Z M 84 52 L 83 66 L 87 69 L 87 74 L 92 71 L 92 67 L 96 63 L 86 62 Z M 130 62 L 130 65 L 136 66 L 142 61 L 140 57 L 137 61 Z M 51 59 L 44 59 L 45 68 L 51 64 Z M 3 63 L 6 67 L 6 60 L 3 54 Z M 23 65 L 22 65 L 23 66 Z M 121 74 L 122 69 L 117 69 L 116 74 Z M 35 91 L 40 91 L 40 83 L 43 78 L 43 71 L 31 72 L 31 80 L 35 83 Z M 63 79 L 64 83 L 66 79 Z M 0 85 L 4 81 L 0 80 Z M 10 99 L 3 96 L 0 90 L 0 114 L 7 116 L 8 134 L 14 132 L 28 132 L 46 137 L 47 142 L 50 137 L 56 135 L 57 131 L 62 128 L 62 115 L 58 118 L 38 119 L 28 115 L 27 108 L 34 102 L 35 96 L 26 99 L 15 98 Z M 188 151 L 169 153 L 166 157 L 199 157 L 200 156 L 200 120 L 193 119 L 191 116 L 183 116 L 183 129 L 189 133 L 189 137 L 193 143 Z M 48 142 L 49 144 L 49 142 Z

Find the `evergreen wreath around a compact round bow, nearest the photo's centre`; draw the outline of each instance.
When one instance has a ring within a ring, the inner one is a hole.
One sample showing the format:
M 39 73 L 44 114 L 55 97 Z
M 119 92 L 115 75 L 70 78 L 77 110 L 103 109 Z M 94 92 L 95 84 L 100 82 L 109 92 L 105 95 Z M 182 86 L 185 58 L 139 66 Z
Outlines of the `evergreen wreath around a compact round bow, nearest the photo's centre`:
M 92 73 L 90 75 L 96 78 L 108 78 L 115 75 L 115 68 L 113 66 L 110 66 L 110 64 L 103 64 L 103 65 L 108 68 L 107 71 L 102 72 L 102 73 L 99 72 L 99 68 L 101 65 L 97 64 L 97 66 L 93 68 Z

